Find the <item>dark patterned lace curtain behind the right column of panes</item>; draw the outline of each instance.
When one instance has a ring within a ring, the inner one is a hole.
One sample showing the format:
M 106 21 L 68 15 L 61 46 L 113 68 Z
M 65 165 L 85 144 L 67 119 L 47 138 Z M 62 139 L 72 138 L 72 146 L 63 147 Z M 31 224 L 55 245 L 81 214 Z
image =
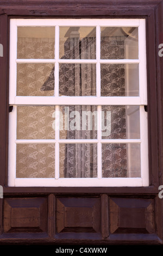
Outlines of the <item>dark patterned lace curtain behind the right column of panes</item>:
M 124 58 L 124 36 L 104 36 L 101 38 L 103 59 Z M 125 96 L 124 64 L 101 64 L 101 96 Z M 103 139 L 126 139 L 126 107 L 105 106 L 111 111 L 111 133 Z M 103 177 L 127 177 L 127 145 L 102 145 Z

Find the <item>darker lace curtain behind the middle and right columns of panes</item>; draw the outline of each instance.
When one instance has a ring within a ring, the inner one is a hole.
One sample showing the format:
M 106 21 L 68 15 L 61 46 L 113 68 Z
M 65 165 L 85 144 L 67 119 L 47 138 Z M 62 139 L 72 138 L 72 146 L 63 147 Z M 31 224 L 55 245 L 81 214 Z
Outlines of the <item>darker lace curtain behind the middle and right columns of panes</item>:
M 117 59 L 124 56 L 124 38 L 102 38 L 103 58 Z M 116 46 L 116 47 L 115 47 Z M 65 42 L 63 59 L 95 59 L 96 38 L 70 38 Z M 96 65 L 61 64 L 59 72 L 60 95 L 95 96 Z M 124 65 L 101 66 L 101 95 L 124 96 Z M 72 102 L 73 104 L 73 102 Z M 96 111 L 95 106 L 72 106 L 70 111 Z M 106 107 L 111 111 L 111 135 L 106 138 L 126 138 L 125 107 Z M 68 131 L 68 139 L 95 139 L 96 131 Z M 104 138 L 104 137 L 103 137 Z M 63 148 L 62 148 L 63 149 Z M 67 144 L 65 154 L 60 159 L 61 175 L 65 178 L 97 177 L 97 144 Z M 103 144 L 102 146 L 103 177 L 126 177 L 127 155 L 126 144 Z

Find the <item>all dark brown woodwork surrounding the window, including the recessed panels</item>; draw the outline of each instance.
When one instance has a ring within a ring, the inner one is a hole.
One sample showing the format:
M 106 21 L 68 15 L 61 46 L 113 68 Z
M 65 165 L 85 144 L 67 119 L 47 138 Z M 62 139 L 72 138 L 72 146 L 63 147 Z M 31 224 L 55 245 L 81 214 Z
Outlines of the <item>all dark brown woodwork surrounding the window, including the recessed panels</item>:
M 162 13 L 162 0 L 0 0 L 0 44 L 4 47 L 4 57 L 0 57 L 1 245 L 162 245 L 163 199 L 158 197 L 158 186 L 163 185 L 163 57 L 158 56 L 158 45 L 163 44 Z M 11 17 L 146 18 L 149 187 L 8 187 Z

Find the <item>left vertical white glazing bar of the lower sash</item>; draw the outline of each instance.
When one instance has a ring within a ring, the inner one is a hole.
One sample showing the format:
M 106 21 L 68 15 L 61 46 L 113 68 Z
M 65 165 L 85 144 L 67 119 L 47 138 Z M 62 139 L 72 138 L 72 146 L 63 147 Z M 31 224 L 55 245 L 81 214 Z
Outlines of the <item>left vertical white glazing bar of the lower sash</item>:
M 59 106 L 55 106 L 55 179 L 59 179 Z

